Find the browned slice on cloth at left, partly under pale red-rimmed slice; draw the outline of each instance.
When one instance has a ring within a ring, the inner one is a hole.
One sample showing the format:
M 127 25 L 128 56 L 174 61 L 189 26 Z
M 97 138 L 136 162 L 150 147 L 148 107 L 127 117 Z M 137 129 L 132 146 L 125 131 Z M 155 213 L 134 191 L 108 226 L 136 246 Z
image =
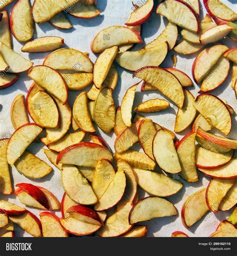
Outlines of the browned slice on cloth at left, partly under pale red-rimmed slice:
M 40 179 L 52 171 L 47 163 L 26 150 L 15 161 L 14 166 L 19 173 L 32 179 Z

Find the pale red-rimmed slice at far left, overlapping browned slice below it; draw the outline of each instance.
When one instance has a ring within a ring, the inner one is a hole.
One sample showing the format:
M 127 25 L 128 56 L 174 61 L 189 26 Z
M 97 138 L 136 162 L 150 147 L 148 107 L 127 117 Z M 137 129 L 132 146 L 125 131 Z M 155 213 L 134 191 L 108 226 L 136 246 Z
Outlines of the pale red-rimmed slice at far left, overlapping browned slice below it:
M 6 148 L 7 162 L 12 166 L 29 144 L 39 135 L 42 128 L 28 123 L 17 128 L 11 135 Z

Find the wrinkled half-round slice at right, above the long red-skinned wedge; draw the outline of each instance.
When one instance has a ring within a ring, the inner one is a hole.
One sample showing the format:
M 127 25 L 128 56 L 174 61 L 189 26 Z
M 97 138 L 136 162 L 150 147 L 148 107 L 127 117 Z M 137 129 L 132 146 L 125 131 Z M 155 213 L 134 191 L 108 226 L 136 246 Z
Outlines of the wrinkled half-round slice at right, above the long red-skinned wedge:
M 210 94 L 202 94 L 197 96 L 193 106 L 211 126 L 225 135 L 229 134 L 232 126 L 231 115 L 219 98 Z

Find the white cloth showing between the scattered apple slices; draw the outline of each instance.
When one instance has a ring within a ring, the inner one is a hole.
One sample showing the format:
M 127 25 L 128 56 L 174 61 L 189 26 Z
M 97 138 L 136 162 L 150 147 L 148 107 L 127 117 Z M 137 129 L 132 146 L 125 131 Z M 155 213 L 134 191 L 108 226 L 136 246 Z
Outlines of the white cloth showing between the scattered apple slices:
M 134 1 L 136 3 L 137 1 Z M 154 1 L 156 2 L 156 1 Z M 201 1 L 202 2 L 202 1 Z M 236 4 L 233 3 L 235 0 L 223 0 L 223 2 L 229 6 L 232 9 L 235 9 L 236 11 Z M 11 5 L 9 5 L 6 10 L 10 13 L 13 5 L 15 2 Z M 202 5 L 202 3 L 201 3 Z M 93 39 L 93 37 L 96 35 L 97 32 L 100 30 L 112 26 L 112 25 L 123 25 L 131 12 L 132 4 L 130 0 L 98 0 L 98 9 L 101 10 L 101 15 L 90 20 L 82 20 L 82 19 L 75 19 L 73 17 L 68 16 L 68 19 L 74 26 L 73 29 L 69 31 L 63 31 L 63 30 L 57 30 L 48 23 L 39 24 L 35 26 L 35 34 L 37 37 L 43 37 L 43 36 L 60 36 L 64 38 L 65 41 L 65 47 L 71 47 L 78 49 L 82 52 L 89 52 L 89 57 L 94 63 L 96 60 L 96 56 L 91 53 L 90 51 L 90 42 Z M 203 7 L 203 5 L 202 5 Z M 203 9 L 202 9 L 203 10 Z M 201 18 L 203 15 L 206 14 L 206 11 L 201 11 Z M 149 43 L 153 39 L 155 39 L 165 28 L 167 24 L 167 20 L 165 18 L 162 18 L 160 16 L 157 16 L 155 12 L 153 12 L 150 19 L 143 25 L 142 30 L 142 39 L 145 44 Z M 18 43 L 14 38 L 13 39 L 13 49 L 17 53 L 21 53 L 20 49 L 23 44 Z M 234 47 L 234 42 L 230 39 L 226 38 L 222 40 L 222 43 L 226 44 L 228 47 L 232 48 Z M 236 47 L 236 44 L 235 44 Z M 137 46 L 135 49 L 142 48 L 142 46 Z M 39 65 L 43 62 L 43 59 L 45 56 L 47 56 L 48 53 L 37 53 L 37 54 L 27 54 L 27 53 L 21 53 L 22 56 L 28 58 L 31 60 L 34 65 Z M 171 51 L 168 53 L 166 60 L 164 63 L 162 63 L 161 67 L 171 67 L 172 66 L 172 60 L 171 55 L 176 54 L 174 51 Z M 176 68 L 184 71 L 187 75 L 191 77 L 191 66 L 193 63 L 193 60 L 196 56 L 196 54 L 193 55 L 177 55 L 177 65 Z M 117 65 L 116 65 L 117 66 Z M 118 82 L 115 91 L 113 92 L 113 98 L 115 101 L 116 107 L 118 107 L 121 103 L 121 99 L 128 87 L 135 84 L 137 82 L 136 79 L 132 79 L 132 72 L 127 72 L 126 70 L 120 68 L 117 66 L 118 70 Z M 229 72 L 229 76 L 227 80 L 222 84 L 217 90 L 214 90 L 212 94 L 226 99 L 228 101 L 228 104 L 230 104 L 235 112 L 236 109 L 236 100 L 234 96 L 233 90 L 230 88 L 230 82 L 231 82 L 231 74 L 232 72 Z M 31 85 L 32 81 L 27 77 L 26 73 L 19 75 L 20 79 L 15 83 L 13 86 L 0 91 L 0 104 L 2 104 L 3 108 L 0 112 L 0 137 L 2 138 L 4 134 L 6 133 L 12 133 L 14 131 L 11 121 L 10 121 L 10 104 L 14 97 L 21 93 L 26 95 L 27 90 L 29 86 Z M 142 101 L 152 99 L 152 98 L 160 98 L 162 99 L 163 96 L 159 92 L 140 92 L 140 87 L 137 88 L 137 92 L 135 95 L 135 102 L 134 106 L 141 103 Z M 193 88 L 189 89 L 191 93 L 196 97 L 198 95 L 198 86 L 194 85 Z M 69 101 L 70 103 L 73 103 L 76 96 L 79 94 L 79 92 L 69 92 Z M 173 104 L 170 104 L 173 106 Z M 170 108 L 165 111 L 161 111 L 160 113 L 153 113 L 145 115 L 146 117 L 152 118 L 153 121 L 156 123 L 165 126 L 168 129 L 173 130 L 174 127 L 174 121 L 175 121 L 175 114 L 177 109 L 173 106 L 173 108 Z M 229 135 L 232 139 L 237 139 L 236 136 L 236 115 L 233 116 L 233 128 L 232 132 Z M 180 139 L 185 134 L 187 134 L 189 130 L 185 130 L 184 132 L 177 135 L 177 137 Z M 115 135 L 114 134 L 104 134 L 101 131 L 97 131 L 97 134 L 101 134 L 103 138 L 108 142 L 110 147 L 113 150 L 113 142 Z M 42 147 L 42 143 L 40 144 L 32 144 L 29 147 L 29 151 L 32 153 L 35 153 L 36 156 L 43 159 L 47 163 L 49 161 L 44 156 L 43 152 L 40 150 Z M 50 163 L 49 163 L 50 164 Z M 52 166 L 53 167 L 53 166 Z M 39 180 L 33 180 L 28 179 L 23 175 L 20 175 L 14 167 L 12 167 L 12 176 L 13 176 L 13 186 L 19 182 L 28 182 L 32 183 L 34 185 L 40 185 L 42 187 L 45 187 L 49 189 L 51 192 L 53 192 L 59 200 L 61 200 L 63 189 L 60 182 L 60 172 L 56 168 L 53 167 L 53 171 L 46 176 L 45 178 L 39 179 Z M 171 217 L 164 217 L 160 219 L 153 219 L 150 221 L 147 221 L 147 230 L 148 230 L 148 236 L 170 236 L 173 231 L 181 230 L 186 232 L 190 236 L 208 236 L 211 234 L 219 221 L 226 218 L 229 212 L 218 212 L 216 214 L 209 214 L 209 217 L 206 221 L 199 221 L 198 223 L 195 223 L 191 228 L 186 229 L 181 222 L 180 218 L 180 210 L 183 202 L 185 199 L 191 195 L 193 192 L 201 189 L 202 187 L 206 187 L 208 184 L 208 181 L 210 178 L 204 177 L 202 174 L 199 174 L 199 181 L 196 183 L 188 183 L 183 180 L 181 182 L 184 184 L 181 191 L 174 195 L 170 196 L 167 199 L 170 200 L 172 203 L 175 204 L 175 206 L 178 209 L 179 215 L 178 216 L 171 216 Z M 144 196 L 144 192 L 140 191 L 140 198 Z M 9 200 L 10 202 L 15 202 L 19 205 L 21 203 L 19 200 L 14 196 L 14 194 L 10 196 L 0 195 L 1 199 Z M 22 205 L 23 206 L 23 205 Z M 40 213 L 40 210 L 27 207 L 30 211 L 32 211 L 34 214 L 38 216 Z M 55 211 L 55 214 L 58 216 L 61 216 L 60 211 Z M 20 228 L 15 228 L 16 236 L 30 236 Z

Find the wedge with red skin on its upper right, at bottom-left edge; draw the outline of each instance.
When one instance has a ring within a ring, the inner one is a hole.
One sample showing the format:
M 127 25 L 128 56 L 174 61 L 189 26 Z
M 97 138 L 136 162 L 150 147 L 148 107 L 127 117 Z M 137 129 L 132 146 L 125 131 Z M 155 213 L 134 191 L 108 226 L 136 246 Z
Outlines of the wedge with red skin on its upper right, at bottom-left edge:
M 32 236 L 42 236 L 41 222 L 32 212 L 26 211 L 20 216 L 9 216 L 9 219 Z

